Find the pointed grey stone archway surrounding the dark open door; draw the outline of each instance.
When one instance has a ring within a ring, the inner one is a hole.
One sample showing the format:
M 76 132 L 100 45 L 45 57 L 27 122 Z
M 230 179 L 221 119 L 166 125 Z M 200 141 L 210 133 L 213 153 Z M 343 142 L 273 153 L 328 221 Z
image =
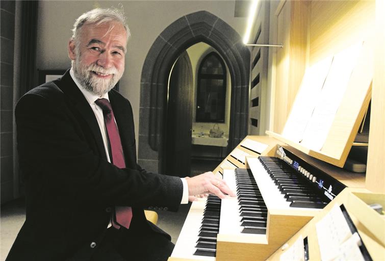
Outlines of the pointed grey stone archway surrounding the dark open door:
M 142 68 L 138 163 L 158 172 L 162 163 L 168 76 L 176 58 L 191 45 L 205 42 L 225 60 L 231 77 L 230 129 L 227 151 L 247 135 L 250 52 L 240 35 L 207 11 L 171 23 L 152 44 Z

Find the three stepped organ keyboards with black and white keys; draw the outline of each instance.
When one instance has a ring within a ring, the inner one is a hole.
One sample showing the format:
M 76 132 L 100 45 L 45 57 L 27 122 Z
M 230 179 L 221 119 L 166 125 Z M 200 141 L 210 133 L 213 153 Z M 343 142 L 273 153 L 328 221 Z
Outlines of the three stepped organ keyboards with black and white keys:
M 270 156 L 260 156 L 263 147 L 262 154 Z M 204 208 L 209 204 L 195 201 L 169 261 L 264 260 L 345 188 L 287 149 L 263 146 L 249 138 L 220 166 L 217 172 L 237 191 L 237 197 L 221 200 L 216 238 L 213 231 L 217 228 L 209 227 L 210 248 L 204 245 L 208 242 L 199 244 Z

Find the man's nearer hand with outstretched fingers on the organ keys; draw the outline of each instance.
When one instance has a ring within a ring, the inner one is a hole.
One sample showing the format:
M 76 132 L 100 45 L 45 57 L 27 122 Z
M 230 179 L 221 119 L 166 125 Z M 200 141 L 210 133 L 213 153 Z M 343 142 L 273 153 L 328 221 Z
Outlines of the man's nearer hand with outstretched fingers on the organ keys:
M 187 177 L 186 181 L 189 187 L 189 201 L 194 201 L 196 196 L 204 194 L 214 194 L 219 198 L 224 198 L 224 193 L 232 197 L 236 196 L 226 182 L 211 171 L 195 177 Z

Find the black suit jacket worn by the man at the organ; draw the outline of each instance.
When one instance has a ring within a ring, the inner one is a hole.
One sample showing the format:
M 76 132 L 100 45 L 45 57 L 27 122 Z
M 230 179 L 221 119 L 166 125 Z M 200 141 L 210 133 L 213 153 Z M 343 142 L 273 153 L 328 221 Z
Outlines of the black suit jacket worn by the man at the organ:
M 127 232 L 162 232 L 143 207 L 177 210 L 180 178 L 147 173 L 136 162 L 133 112 L 115 90 L 109 99 L 127 168 L 106 159 L 98 123 L 69 71 L 18 101 L 15 116 L 20 169 L 25 177 L 26 220 L 8 260 L 87 260 L 104 237 L 111 207 L 133 207 Z

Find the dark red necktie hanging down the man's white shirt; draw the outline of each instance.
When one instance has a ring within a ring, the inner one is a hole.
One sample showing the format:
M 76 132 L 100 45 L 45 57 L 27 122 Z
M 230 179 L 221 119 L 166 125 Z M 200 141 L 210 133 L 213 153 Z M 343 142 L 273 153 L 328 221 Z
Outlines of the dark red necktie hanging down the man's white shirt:
M 107 128 L 108 139 L 110 140 L 112 163 L 118 168 L 125 168 L 122 143 L 120 141 L 118 127 L 115 123 L 114 112 L 108 99 L 102 98 L 95 100 L 101 110 L 103 110 L 104 121 Z M 112 225 L 119 229 L 120 226 L 130 227 L 133 212 L 130 206 L 115 206 L 115 215 L 112 218 Z

